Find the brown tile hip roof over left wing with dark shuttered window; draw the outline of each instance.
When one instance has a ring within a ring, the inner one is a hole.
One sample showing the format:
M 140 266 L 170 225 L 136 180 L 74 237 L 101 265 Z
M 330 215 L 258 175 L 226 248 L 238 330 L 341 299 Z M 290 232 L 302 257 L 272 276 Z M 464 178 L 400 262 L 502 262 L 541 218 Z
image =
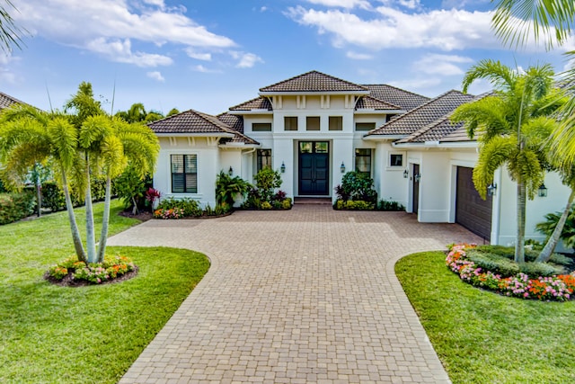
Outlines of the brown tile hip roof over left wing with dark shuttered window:
M 219 120 L 216 116 L 209 115 L 194 110 L 181 112 L 162 120 L 153 121 L 147 124 L 156 134 L 213 134 L 223 133 L 227 138 L 223 142 L 238 142 L 245 144 L 258 144 L 243 135 L 242 132 L 234 130 Z

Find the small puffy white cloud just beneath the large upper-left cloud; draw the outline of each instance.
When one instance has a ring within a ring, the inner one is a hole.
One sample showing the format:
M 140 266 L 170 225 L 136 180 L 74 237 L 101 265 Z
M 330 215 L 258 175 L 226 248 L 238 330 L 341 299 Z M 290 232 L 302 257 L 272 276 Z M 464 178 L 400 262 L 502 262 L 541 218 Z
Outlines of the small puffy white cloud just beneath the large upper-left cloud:
M 172 58 L 168 58 L 164 55 L 145 52 L 132 53 L 129 39 L 106 40 L 104 38 L 98 38 L 88 41 L 85 48 L 100 53 L 111 61 L 134 64 L 137 65 L 137 67 L 169 66 L 173 62 Z

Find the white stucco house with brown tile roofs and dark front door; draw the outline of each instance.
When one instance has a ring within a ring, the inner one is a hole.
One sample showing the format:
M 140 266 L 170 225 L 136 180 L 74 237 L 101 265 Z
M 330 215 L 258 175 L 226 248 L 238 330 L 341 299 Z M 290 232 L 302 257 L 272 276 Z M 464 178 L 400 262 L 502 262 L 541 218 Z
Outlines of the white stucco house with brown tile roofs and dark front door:
M 471 178 L 477 142 L 449 121 L 473 98 L 449 91 L 429 99 L 308 72 L 264 86 L 218 116 L 190 110 L 150 123 L 161 145 L 154 185 L 164 197 L 214 206 L 217 173 L 252 182 L 270 166 L 281 171 L 289 197 L 335 200 L 341 176 L 357 170 L 373 177 L 379 199 L 402 202 L 420 222 L 460 223 L 508 245 L 517 228 L 515 183 L 498 171 L 492 196 L 482 201 Z M 527 203 L 527 237 L 542 239 L 535 223 L 567 201 L 556 174 L 544 185 L 547 197 Z

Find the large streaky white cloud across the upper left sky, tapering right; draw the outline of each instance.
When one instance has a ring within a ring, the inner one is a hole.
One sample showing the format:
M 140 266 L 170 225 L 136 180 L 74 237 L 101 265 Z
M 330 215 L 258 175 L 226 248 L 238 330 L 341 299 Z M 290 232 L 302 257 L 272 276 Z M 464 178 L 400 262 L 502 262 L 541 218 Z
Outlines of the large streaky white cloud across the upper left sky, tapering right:
M 20 11 L 13 14 L 14 19 L 32 35 L 89 49 L 109 59 L 110 53 L 102 52 L 102 40 L 138 41 L 138 47 L 146 47 L 150 53 L 135 56 L 150 63 L 165 62 L 161 55 L 151 52 L 166 43 L 201 49 L 235 46 L 234 40 L 208 31 L 187 17 L 184 7 L 166 7 L 164 0 L 14 0 L 13 3 Z M 136 64 L 136 60 L 121 59 Z

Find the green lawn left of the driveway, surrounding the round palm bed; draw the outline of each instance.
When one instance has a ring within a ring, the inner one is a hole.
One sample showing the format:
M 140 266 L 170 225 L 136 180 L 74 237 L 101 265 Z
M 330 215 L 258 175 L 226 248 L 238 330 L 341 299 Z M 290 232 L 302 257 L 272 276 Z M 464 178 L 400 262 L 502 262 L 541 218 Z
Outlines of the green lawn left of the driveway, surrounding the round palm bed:
M 112 204 L 111 234 L 137 224 Z M 117 382 L 209 267 L 191 251 L 109 247 L 134 260 L 135 278 L 81 288 L 42 279 L 73 254 L 66 212 L 0 227 L 0 382 Z

